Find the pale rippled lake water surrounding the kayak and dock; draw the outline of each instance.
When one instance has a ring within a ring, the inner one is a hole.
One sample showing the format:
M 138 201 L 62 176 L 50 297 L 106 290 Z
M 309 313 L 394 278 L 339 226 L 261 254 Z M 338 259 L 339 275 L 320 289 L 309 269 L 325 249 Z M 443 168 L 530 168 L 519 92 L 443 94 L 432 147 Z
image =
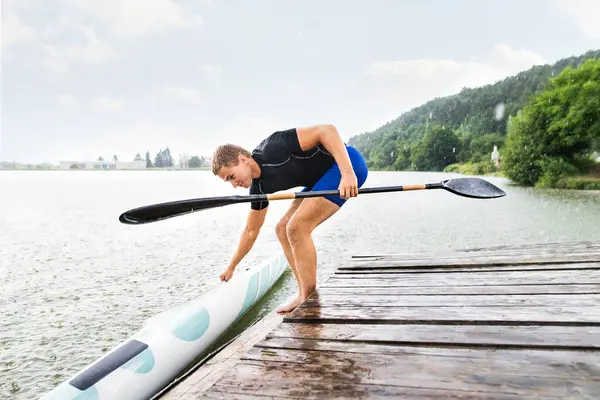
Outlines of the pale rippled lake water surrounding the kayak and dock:
M 438 182 L 443 173 L 371 172 L 365 186 Z M 319 282 L 353 255 L 600 240 L 600 193 L 536 190 L 486 178 L 508 195 L 443 190 L 351 199 L 314 233 Z M 143 321 L 217 282 L 249 204 L 127 226 L 123 211 L 246 194 L 210 171 L 0 171 L 0 397 L 32 399 L 135 333 Z M 271 202 L 239 268 L 280 250 Z M 294 293 L 291 273 L 238 330 Z

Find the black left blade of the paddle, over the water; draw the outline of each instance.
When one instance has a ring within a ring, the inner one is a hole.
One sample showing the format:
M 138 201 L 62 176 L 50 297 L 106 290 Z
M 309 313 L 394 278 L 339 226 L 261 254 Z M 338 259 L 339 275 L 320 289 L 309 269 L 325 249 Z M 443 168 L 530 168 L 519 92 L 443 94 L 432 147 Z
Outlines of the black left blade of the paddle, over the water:
M 178 200 L 133 208 L 119 216 L 119 221 L 128 225 L 147 224 L 207 208 L 222 207 L 238 202 L 236 196 Z

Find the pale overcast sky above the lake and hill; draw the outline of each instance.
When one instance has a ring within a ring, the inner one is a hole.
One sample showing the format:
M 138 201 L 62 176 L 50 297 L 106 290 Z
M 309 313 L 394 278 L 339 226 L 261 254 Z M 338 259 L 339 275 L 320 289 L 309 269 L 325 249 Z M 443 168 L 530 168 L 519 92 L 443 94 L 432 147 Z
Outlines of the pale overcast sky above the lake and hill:
M 0 160 L 347 140 L 600 48 L 600 0 L 3 0 Z

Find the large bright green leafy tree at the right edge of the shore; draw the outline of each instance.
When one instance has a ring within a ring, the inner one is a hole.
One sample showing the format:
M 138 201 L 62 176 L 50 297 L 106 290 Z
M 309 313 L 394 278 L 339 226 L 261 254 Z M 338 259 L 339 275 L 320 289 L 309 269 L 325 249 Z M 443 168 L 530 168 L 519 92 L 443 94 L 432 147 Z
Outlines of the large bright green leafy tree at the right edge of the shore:
M 600 60 L 568 67 L 509 121 L 503 169 L 528 186 L 550 187 L 582 171 L 600 137 Z

